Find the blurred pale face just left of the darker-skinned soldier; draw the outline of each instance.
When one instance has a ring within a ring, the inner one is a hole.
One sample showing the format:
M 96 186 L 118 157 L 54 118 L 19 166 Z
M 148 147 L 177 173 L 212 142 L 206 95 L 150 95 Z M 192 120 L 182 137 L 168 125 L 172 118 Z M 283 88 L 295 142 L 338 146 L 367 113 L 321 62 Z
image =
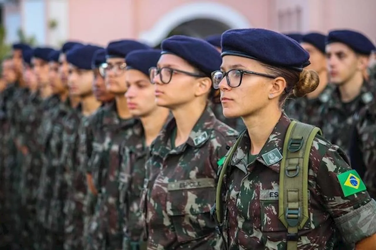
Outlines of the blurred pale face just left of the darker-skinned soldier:
M 79 69 L 69 64 L 68 86 L 71 96 L 85 97 L 92 94 L 92 82 L 94 72 L 92 70 Z

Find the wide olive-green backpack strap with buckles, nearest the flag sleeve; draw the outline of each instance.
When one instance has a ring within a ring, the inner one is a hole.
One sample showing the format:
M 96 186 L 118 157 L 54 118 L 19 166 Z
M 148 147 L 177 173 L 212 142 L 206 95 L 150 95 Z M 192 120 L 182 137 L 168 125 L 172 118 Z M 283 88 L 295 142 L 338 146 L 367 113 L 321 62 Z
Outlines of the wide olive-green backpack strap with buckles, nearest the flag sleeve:
M 291 121 L 285 136 L 279 173 L 279 220 L 287 228 L 287 250 L 296 250 L 298 230 L 309 219 L 308 163 L 318 127 Z

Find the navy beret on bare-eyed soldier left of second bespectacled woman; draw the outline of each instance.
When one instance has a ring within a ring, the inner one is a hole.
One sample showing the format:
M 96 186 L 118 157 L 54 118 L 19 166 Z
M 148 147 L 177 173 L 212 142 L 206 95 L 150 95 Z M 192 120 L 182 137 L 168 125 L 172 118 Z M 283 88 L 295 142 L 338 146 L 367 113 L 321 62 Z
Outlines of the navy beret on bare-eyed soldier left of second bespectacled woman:
M 139 49 L 130 52 L 125 58 L 127 69 L 136 69 L 149 76 L 149 69 L 157 66 L 161 52 L 159 49 Z

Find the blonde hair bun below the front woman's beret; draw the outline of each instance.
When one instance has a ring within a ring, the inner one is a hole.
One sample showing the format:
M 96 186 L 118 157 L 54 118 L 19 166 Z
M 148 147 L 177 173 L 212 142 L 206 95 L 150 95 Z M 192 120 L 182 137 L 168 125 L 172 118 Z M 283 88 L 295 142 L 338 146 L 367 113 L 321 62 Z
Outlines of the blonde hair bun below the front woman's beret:
M 319 82 L 320 79 L 316 71 L 303 69 L 303 71 L 300 72 L 299 81 L 294 87 L 294 96 L 302 97 L 311 93 L 317 88 Z

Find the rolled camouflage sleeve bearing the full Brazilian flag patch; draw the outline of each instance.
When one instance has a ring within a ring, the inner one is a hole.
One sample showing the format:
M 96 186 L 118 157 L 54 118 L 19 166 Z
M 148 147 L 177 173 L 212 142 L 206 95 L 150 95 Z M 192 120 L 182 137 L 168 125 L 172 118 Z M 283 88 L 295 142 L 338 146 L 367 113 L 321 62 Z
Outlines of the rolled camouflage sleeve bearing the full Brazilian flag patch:
M 345 159 L 345 153 L 332 145 L 321 159 L 317 185 L 343 240 L 353 244 L 376 233 L 376 202 Z

